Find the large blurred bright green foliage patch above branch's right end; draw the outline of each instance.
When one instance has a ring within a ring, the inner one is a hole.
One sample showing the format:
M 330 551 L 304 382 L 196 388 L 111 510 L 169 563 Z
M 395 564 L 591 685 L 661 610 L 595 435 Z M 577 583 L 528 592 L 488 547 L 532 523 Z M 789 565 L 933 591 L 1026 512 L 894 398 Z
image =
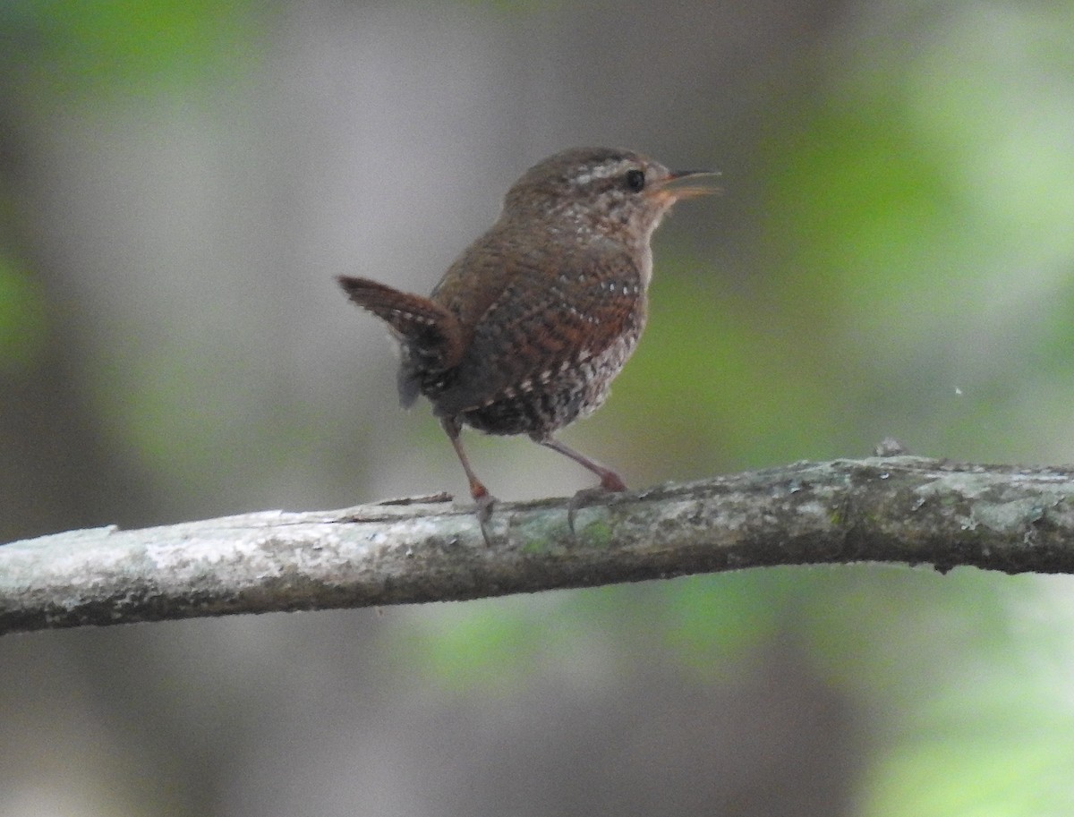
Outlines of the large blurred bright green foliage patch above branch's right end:
M 769 130 L 781 323 L 819 331 L 814 374 L 876 439 L 1025 458 L 1029 395 L 1074 388 L 1069 363 L 1036 368 L 1072 339 L 1071 32 L 1059 5 L 938 10 L 913 49 L 834 49 Z

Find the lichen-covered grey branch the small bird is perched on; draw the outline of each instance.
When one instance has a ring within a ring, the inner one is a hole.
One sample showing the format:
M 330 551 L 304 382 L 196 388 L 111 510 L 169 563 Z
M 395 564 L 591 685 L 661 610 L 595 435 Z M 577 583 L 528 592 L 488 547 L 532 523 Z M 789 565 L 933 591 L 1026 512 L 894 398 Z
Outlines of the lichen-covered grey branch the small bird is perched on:
M 1074 572 L 1074 470 L 799 463 L 579 501 L 446 497 L 0 545 L 0 633 L 471 599 L 769 565 Z

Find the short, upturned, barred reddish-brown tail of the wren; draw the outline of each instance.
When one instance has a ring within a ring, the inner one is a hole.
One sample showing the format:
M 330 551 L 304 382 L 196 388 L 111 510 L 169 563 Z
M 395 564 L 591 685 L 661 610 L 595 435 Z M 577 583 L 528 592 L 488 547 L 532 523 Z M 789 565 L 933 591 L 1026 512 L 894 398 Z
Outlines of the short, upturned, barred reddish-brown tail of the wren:
M 367 278 L 340 275 L 336 280 L 351 301 L 386 321 L 423 367 L 445 370 L 462 360 L 462 329 L 450 310 Z

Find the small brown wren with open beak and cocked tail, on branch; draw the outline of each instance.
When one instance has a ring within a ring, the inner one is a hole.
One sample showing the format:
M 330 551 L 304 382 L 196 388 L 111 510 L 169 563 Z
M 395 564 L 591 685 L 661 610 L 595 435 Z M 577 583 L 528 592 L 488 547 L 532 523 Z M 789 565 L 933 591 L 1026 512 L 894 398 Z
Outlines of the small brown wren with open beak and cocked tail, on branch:
M 402 347 L 400 399 L 433 404 L 469 480 L 482 530 L 494 497 L 477 478 L 462 425 L 527 434 L 625 491 L 615 471 L 552 434 L 598 408 L 645 325 L 649 240 L 679 199 L 712 192 L 632 150 L 565 150 L 531 167 L 499 219 L 429 297 L 339 276 L 350 300 L 388 322 Z M 488 536 L 487 536 L 488 538 Z

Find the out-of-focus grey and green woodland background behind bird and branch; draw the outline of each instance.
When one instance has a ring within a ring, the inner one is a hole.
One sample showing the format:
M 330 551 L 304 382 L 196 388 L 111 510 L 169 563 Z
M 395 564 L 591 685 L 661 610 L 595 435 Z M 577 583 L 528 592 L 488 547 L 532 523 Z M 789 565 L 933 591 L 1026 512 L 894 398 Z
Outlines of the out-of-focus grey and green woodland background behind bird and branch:
M 0 4 L 0 541 L 450 490 L 339 273 L 723 172 L 563 435 L 635 486 L 1074 461 L 1074 6 Z M 466 435 L 504 498 L 590 484 Z M 0 640 L 0 817 L 1068 815 L 1074 580 L 854 566 Z

